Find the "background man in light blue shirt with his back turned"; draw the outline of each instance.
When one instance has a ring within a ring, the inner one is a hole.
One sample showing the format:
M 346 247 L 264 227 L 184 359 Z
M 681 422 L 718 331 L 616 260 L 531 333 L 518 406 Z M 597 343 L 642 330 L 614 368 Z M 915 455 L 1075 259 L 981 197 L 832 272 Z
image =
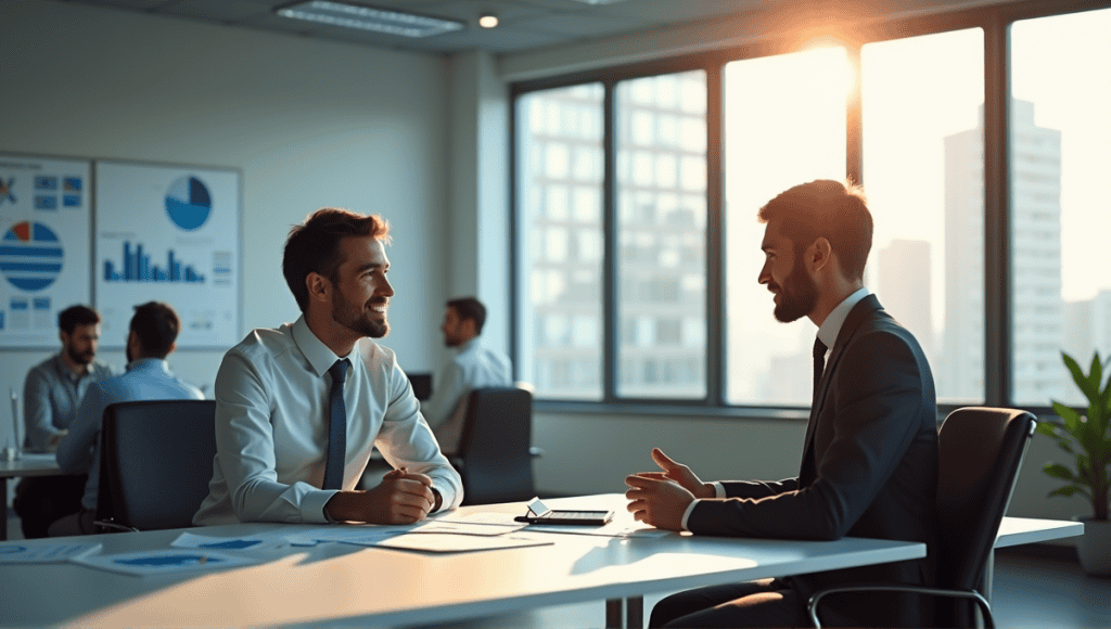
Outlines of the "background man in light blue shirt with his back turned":
M 81 510 L 50 525 L 50 536 L 92 535 L 97 493 L 100 488 L 100 428 L 104 409 L 116 402 L 133 400 L 202 400 L 200 389 L 170 371 L 168 357 L 181 320 L 168 303 L 150 301 L 136 306 L 128 331 L 127 372 L 94 382 L 89 387 L 70 425 L 69 435 L 58 443 L 58 467 L 70 473 L 89 475 L 81 498 Z

